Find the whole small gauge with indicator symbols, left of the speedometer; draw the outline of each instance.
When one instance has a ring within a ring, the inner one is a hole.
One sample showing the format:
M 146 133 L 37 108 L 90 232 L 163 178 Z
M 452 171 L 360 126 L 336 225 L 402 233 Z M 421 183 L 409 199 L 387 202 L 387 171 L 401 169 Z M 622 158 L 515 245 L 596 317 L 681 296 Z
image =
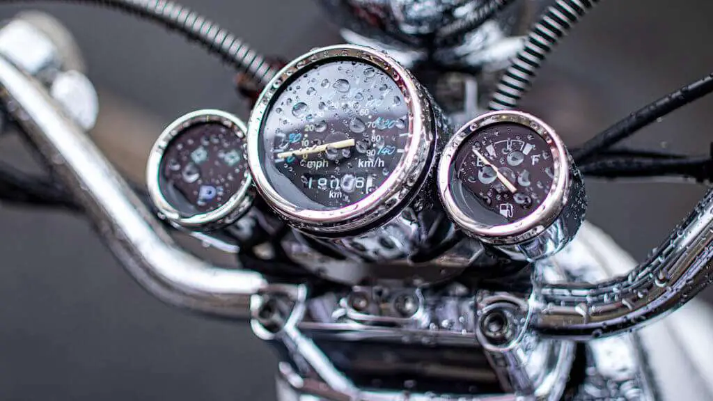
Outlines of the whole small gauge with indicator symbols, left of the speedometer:
M 171 123 L 153 146 L 147 168 L 151 200 L 175 224 L 209 230 L 252 204 L 245 124 L 230 113 L 199 110 Z

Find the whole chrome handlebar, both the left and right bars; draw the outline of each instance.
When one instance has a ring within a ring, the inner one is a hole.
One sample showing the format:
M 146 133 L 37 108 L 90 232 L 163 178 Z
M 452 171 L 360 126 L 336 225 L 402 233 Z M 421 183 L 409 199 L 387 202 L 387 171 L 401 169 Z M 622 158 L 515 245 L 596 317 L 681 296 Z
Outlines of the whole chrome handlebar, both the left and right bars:
M 36 78 L 0 57 L 0 98 L 144 288 L 172 305 L 227 318 L 250 315 L 262 275 L 221 268 L 178 248 L 80 126 Z M 632 330 L 690 300 L 712 280 L 713 191 L 647 262 L 593 285 L 540 284 L 530 302 L 533 328 L 588 339 Z

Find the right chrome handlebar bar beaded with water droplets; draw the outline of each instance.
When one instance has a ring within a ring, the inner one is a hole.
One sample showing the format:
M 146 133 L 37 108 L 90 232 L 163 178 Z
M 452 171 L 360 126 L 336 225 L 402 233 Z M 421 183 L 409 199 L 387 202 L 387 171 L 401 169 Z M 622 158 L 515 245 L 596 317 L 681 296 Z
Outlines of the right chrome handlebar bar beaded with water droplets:
M 632 330 L 691 300 L 713 280 L 713 189 L 645 263 L 598 284 L 545 284 L 535 327 L 547 335 L 588 340 Z

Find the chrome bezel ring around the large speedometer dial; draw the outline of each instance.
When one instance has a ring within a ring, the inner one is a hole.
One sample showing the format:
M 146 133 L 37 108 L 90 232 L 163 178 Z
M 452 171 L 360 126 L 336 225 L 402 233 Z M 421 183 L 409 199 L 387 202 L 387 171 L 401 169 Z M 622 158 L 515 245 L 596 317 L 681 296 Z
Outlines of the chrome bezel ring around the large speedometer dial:
M 288 85 L 302 71 L 314 68 L 329 60 L 352 59 L 371 64 L 384 71 L 401 90 L 404 102 L 409 108 L 409 136 L 404 156 L 391 172 L 386 181 L 365 198 L 334 210 L 312 210 L 300 208 L 282 197 L 268 181 L 260 161 L 260 141 L 262 141 L 262 124 L 267 111 L 272 108 L 272 99 L 280 93 L 283 86 Z M 250 171 L 255 180 L 257 190 L 267 200 L 272 208 L 286 218 L 290 223 L 314 233 L 346 233 L 373 224 L 379 218 L 391 213 L 404 199 L 409 197 L 411 190 L 419 183 L 419 178 L 428 166 L 434 146 L 433 117 L 429 99 L 424 89 L 411 76 L 406 68 L 396 60 L 364 46 L 337 45 L 322 49 L 314 49 L 299 56 L 284 66 L 275 78 L 267 84 L 252 109 L 247 131 L 247 154 Z

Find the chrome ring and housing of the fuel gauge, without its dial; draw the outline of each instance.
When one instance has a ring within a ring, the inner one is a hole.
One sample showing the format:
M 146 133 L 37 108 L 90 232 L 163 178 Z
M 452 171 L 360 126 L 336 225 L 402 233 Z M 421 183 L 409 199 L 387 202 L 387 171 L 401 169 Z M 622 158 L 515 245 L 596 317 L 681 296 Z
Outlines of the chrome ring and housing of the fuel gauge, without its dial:
M 542 136 L 553 156 L 552 188 L 542 205 L 525 218 L 505 225 L 485 225 L 458 208 L 450 188 L 451 165 L 466 139 L 481 128 L 497 123 L 518 123 Z M 493 111 L 474 118 L 461 127 L 446 144 L 438 163 L 438 194 L 443 206 L 463 232 L 495 245 L 513 258 L 544 258 L 562 249 L 577 233 L 585 213 L 582 178 L 563 141 L 553 128 L 539 118 L 520 111 Z M 520 254 L 520 255 L 518 255 Z

